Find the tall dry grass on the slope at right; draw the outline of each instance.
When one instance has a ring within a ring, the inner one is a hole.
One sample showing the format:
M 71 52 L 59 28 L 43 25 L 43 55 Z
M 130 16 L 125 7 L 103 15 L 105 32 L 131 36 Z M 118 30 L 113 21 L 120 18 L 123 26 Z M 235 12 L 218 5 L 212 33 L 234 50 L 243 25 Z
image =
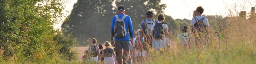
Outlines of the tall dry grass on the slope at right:
M 256 64 L 256 20 L 229 16 L 228 20 L 218 21 L 208 34 L 208 42 L 201 47 L 192 46 L 189 50 L 178 46 L 170 50 L 148 55 L 142 64 Z M 228 22 L 230 21 L 230 22 Z M 193 45 L 194 42 L 192 42 Z

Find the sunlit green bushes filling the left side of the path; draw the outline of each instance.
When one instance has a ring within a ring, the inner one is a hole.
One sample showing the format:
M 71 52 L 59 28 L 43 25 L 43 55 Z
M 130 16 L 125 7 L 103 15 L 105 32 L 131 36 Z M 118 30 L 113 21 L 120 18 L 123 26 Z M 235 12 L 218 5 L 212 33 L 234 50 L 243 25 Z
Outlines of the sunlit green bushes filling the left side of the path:
M 53 25 L 63 16 L 66 0 L 1 0 L 0 48 L 6 61 L 44 63 L 58 60 L 74 40 L 54 40 Z M 60 36 L 60 34 L 58 34 Z M 61 36 L 63 38 L 63 36 Z M 67 47 L 65 47 L 67 46 Z M 61 50 L 61 51 L 60 51 Z M 49 60 L 50 59 L 50 60 Z

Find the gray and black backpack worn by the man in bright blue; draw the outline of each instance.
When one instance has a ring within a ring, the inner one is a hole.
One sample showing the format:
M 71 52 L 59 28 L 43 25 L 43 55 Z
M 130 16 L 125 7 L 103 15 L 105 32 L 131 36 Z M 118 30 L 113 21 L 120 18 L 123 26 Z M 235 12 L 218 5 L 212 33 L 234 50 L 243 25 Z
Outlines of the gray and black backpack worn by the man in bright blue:
M 124 38 L 126 36 L 126 29 L 125 29 L 125 22 L 124 18 L 126 18 L 127 15 L 124 15 L 122 18 L 119 18 L 117 15 L 116 17 L 116 22 L 115 22 L 115 27 L 114 27 L 114 35 L 117 38 Z

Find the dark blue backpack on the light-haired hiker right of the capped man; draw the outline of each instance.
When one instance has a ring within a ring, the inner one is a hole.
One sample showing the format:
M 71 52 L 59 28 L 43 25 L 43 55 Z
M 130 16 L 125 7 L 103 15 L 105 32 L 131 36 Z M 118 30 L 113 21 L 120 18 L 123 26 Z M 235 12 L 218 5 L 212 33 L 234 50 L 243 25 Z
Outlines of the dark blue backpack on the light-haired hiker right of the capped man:
M 156 25 L 154 26 L 154 30 L 153 30 L 153 38 L 155 39 L 161 39 L 163 38 L 162 34 L 164 34 L 164 30 L 163 30 L 163 26 L 162 24 L 166 24 L 164 22 L 162 23 L 156 23 Z

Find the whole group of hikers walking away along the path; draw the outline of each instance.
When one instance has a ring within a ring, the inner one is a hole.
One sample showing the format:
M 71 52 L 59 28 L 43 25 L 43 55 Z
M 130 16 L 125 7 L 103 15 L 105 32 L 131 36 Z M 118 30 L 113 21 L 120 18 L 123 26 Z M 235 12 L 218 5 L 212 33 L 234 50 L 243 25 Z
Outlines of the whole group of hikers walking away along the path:
M 173 45 L 170 41 L 171 33 L 168 31 L 168 24 L 164 22 L 164 14 L 158 14 L 155 20 L 152 12 L 146 12 L 146 20 L 141 22 L 134 38 L 132 20 L 130 16 L 125 14 L 125 8 L 120 6 L 117 12 L 118 15 L 113 17 L 111 24 L 111 44 L 105 42 L 106 49 L 103 50 L 102 44 L 96 46 L 97 40 L 94 38 L 89 50 L 86 50 L 86 54 L 88 54 L 88 51 L 93 52 L 91 60 L 96 62 L 104 60 L 104 64 L 132 64 L 134 61 L 142 61 L 146 58 L 146 54 L 151 49 L 156 52 L 168 49 Z M 202 16 L 203 12 L 204 8 L 199 6 L 193 13 L 190 22 L 192 36 L 187 33 L 188 26 L 182 27 L 182 33 L 176 37 L 182 47 L 190 49 L 192 38 L 198 46 L 206 44 L 204 42 L 207 41 L 207 34 L 210 30 L 208 19 Z M 110 48 L 110 45 L 115 48 Z M 83 58 L 86 58 L 86 56 L 83 56 Z

